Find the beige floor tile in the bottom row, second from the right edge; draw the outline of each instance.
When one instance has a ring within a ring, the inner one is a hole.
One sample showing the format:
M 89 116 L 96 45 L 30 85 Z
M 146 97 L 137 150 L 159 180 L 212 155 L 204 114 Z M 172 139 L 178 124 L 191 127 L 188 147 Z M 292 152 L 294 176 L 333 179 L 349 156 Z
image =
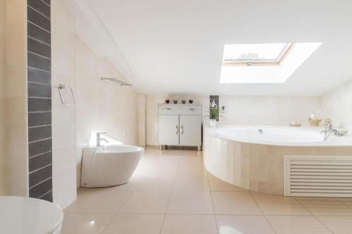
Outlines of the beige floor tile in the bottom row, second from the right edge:
M 331 234 L 313 216 L 267 216 L 277 234 Z

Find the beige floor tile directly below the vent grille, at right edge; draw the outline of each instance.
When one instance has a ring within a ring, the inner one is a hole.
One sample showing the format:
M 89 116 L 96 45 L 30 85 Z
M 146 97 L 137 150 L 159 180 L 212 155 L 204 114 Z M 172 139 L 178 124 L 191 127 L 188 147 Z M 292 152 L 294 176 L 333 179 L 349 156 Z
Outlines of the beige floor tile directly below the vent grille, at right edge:
M 295 197 L 315 216 L 352 216 L 352 208 L 334 197 Z

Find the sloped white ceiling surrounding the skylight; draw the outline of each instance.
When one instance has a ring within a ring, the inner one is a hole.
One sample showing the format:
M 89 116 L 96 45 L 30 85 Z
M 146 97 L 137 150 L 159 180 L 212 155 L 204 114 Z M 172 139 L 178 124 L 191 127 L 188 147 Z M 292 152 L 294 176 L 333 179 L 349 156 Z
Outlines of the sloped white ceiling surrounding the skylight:
M 352 79 L 349 0 L 76 1 L 139 93 L 318 96 Z M 220 84 L 224 44 L 281 42 L 323 44 L 284 84 Z

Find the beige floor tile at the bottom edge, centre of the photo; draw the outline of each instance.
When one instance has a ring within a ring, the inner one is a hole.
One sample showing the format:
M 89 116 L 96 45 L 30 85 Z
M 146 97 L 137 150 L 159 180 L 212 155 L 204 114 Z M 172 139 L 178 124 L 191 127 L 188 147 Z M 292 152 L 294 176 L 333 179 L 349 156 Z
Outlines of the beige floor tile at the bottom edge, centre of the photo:
M 166 215 L 162 234 L 217 234 L 213 215 Z

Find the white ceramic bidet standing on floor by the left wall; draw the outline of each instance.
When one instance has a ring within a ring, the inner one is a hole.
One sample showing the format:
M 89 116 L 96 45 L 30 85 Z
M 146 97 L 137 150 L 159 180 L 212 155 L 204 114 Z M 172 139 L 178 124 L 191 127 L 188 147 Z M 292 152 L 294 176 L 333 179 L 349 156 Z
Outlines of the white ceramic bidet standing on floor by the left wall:
M 101 188 L 127 183 L 143 152 L 144 148 L 134 145 L 83 148 L 81 187 Z

